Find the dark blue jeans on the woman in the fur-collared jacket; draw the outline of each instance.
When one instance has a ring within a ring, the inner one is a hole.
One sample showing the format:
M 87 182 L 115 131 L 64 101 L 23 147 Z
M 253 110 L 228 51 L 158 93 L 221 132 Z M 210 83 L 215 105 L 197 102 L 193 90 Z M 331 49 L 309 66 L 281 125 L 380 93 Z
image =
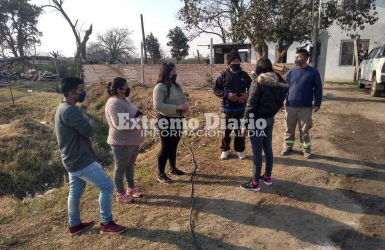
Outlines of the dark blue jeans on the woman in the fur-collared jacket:
M 274 125 L 274 117 L 264 118 L 266 127 L 263 129 L 250 129 L 250 142 L 252 148 L 252 179 L 259 181 L 259 176 L 262 168 L 262 149 L 264 152 L 266 167 L 264 174 L 271 176 L 272 171 L 272 127 Z

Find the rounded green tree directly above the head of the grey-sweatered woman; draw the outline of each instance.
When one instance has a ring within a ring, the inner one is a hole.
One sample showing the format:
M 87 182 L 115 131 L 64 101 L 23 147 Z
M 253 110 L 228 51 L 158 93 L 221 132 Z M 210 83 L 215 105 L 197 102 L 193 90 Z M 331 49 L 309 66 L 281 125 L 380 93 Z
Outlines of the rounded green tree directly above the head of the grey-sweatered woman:
M 171 47 L 171 56 L 175 58 L 176 63 L 178 63 L 179 60 L 188 55 L 188 49 L 190 48 L 187 43 L 188 39 L 178 26 L 168 31 L 167 38 L 169 38 L 167 46 Z

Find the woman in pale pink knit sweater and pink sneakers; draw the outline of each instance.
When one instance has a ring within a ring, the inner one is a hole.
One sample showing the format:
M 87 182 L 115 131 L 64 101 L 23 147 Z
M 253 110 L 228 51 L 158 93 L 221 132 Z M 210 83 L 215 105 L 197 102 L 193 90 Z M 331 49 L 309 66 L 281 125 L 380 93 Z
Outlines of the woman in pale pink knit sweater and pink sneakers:
M 132 203 L 133 197 L 142 196 L 133 182 L 133 164 L 139 152 L 139 144 L 144 139 L 142 113 L 127 98 L 130 89 L 126 79 L 115 77 L 112 83 L 108 83 L 107 92 L 111 96 L 105 103 L 105 117 L 109 125 L 107 143 L 115 161 L 113 178 L 116 201 Z M 124 176 L 128 186 L 126 191 Z

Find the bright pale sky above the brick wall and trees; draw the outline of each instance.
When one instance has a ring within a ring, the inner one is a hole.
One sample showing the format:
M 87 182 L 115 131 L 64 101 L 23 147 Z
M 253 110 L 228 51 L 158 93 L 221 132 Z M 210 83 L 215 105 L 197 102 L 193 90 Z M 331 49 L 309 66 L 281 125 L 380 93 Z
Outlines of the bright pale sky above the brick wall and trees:
M 47 4 L 48 0 L 31 0 L 33 4 Z M 144 33 L 150 32 L 157 37 L 161 47 L 169 51 L 166 46 L 168 30 L 176 25 L 183 27 L 183 23 L 176 19 L 177 11 L 183 6 L 181 0 L 65 0 L 63 8 L 74 23 L 82 25 L 82 30 L 88 29 L 92 23 L 93 31 L 88 41 L 96 41 L 96 35 L 111 27 L 128 27 L 133 30 L 131 35 L 136 47 L 136 56 L 140 56 L 140 41 L 142 39 L 140 14 L 143 14 Z M 38 19 L 37 28 L 43 33 L 41 45 L 36 48 L 40 54 L 58 50 L 63 56 L 73 56 L 76 42 L 67 21 L 53 8 L 45 8 L 45 12 Z M 201 35 L 189 42 L 188 57 L 199 53 L 206 55 L 209 49 L 198 44 L 209 44 L 210 35 Z M 213 36 L 214 43 L 220 43 L 217 36 Z

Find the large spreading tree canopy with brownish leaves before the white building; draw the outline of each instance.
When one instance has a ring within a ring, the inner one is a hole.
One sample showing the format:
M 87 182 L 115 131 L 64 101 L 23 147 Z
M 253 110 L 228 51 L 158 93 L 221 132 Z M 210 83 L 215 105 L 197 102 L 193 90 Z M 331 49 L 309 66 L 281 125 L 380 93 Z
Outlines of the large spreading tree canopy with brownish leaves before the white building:
M 219 10 L 213 10 L 211 16 L 200 19 L 195 16 L 201 9 L 205 10 L 202 6 L 208 6 L 210 2 L 213 0 L 184 0 L 184 8 L 179 11 L 179 15 L 191 15 L 187 18 L 189 22 L 185 22 L 186 28 L 196 23 L 210 24 L 220 14 L 222 23 L 231 23 L 229 30 L 232 41 L 244 42 L 249 39 L 257 58 L 267 56 L 267 42 L 277 44 L 275 59 L 281 61 L 294 41 L 301 42 L 310 38 L 312 0 L 222 0 Z M 319 2 L 314 1 L 315 9 L 318 9 Z M 232 17 L 235 21 L 221 14 L 226 13 L 231 6 L 236 9 Z M 373 24 L 378 19 L 375 0 L 327 0 L 322 2 L 321 9 L 321 28 L 327 28 L 335 22 L 348 35 L 355 34 L 365 24 Z

